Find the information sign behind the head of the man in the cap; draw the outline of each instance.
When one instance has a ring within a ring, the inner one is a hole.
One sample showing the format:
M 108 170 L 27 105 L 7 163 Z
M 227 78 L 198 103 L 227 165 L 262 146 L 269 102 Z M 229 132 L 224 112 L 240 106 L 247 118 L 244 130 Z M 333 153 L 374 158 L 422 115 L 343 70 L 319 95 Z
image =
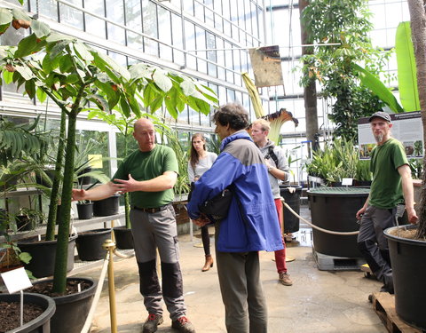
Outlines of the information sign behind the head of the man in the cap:
M 390 114 L 392 138 L 398 139 L 406 149 L 409 158 L 423 157 L 423 127 L 420 111 Z M 358 121 L 359 158 L 370 158 L 371 150 L 375 147 L 375 137 L 371 131 L 368 117 Z

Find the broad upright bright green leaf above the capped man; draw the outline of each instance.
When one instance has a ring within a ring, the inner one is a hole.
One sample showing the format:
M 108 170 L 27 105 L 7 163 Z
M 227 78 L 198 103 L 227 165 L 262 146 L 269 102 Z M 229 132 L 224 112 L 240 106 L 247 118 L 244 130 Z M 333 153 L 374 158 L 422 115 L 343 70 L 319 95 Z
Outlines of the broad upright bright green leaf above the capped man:
M 398 62 L 399 99 L 406 111 L 419 111 L 419 91 L 410 22 L 398 24 L 395 40 Z

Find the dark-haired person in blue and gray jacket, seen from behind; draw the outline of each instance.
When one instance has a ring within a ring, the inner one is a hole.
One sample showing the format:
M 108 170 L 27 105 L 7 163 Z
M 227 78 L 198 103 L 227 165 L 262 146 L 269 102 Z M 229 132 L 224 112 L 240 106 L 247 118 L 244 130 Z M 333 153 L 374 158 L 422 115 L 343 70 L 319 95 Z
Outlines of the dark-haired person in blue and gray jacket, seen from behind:
M 194 223 L 209 220 L 199 206 L 226 187 L 233 191 L 228 216 L 216 221 L 217 274 L 228 332 L 267 331 L 259 279 L 259 250 L 281 250 L 280 227 L 264 157 L 245 129 L 248 113 L 236 103 L 219 107 L 213 120 L 222 139 L 216 162 L 195 183 L 188 212 Z

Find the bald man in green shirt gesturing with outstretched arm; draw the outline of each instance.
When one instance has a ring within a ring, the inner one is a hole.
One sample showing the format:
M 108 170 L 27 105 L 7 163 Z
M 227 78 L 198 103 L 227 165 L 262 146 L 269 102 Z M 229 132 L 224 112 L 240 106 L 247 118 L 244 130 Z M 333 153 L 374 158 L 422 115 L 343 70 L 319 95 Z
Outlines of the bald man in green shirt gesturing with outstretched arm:
M 162 298 L 171 326 L 179 332 L 195 332 L 185 317 L 182 274 L 178 262 L 177 226 L 171 202 L 177 180 L 177 159 L 170 147 L 155 144 L 154 124 L 135 123 L 133 137 L 139 149 L 122 162 L 112 180 L 89 191 L 73 190 L 74 200 L 100 200 L 130 193 L 131 232 L 138 261 L 140 293 L 148 312 L 143 333 L 152 333 L 163 322 Z M 162 261 L 162 287 L 156 271 L 156 249 Z

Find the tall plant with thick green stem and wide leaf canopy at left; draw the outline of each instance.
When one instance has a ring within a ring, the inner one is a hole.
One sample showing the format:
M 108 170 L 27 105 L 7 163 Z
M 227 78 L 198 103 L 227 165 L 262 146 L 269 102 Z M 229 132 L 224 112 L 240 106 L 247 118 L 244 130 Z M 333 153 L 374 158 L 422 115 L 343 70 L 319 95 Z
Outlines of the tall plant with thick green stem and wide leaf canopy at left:
M 11 11 L 10 22 L 13 15 L 14 12 Z M 45 24 L 20 12 L 20 16 L 24 15 L 33 33 L 23 38 L 17 47 L 3 48 L 1 69 L 5 83 L 13 82 L 19 86 L 25 84 L 29 98 L 47 95 L 62 112 L 61 126 L 65 123 L 63 120 L 67 119 L 67 144 L 60 197 L 62 219 L 58 227 L 55 269 L 50 287 L 51 291 L 63 295 L 69 280 L 67 243 L 75 170 L 77 116 L 93 106 L 109 112 L 117 104 L 122 107 L 125 115 L 133 113 L 140 116 L 141 107 L 154 113 L 165 106 L 169 114 L 176 118 L 185 104 L 196 111 L 209 114 L 210 107 L 217 103 L 217 98 L 206 86 L 160 67 L 143 63 L 132 65 L 129 69 L 122 67 L 104 53 L 97 52 L 75 38 L 52 33 Z M 5 26 L 2 25 L 3 27 Z M 89 296 L 92 297 L 93 294 Z M 78 319 L 81 321 L 83 317 Z M 77 323 L 69 326 L 78 329 Z M 67 325 L 61 325 L 57 331 L 64 332 L 65 328 Z

